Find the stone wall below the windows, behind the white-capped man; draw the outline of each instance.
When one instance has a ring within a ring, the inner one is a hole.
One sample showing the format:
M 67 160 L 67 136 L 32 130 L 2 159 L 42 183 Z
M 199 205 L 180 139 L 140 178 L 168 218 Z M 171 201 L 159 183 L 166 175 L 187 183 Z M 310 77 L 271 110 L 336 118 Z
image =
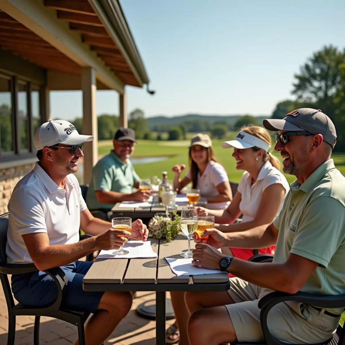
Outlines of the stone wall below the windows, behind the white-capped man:
M 7 205 L 17 182 L 30 172 L 34 166 L 33 163 L 0 169 L 0 215 L 8 211 Z

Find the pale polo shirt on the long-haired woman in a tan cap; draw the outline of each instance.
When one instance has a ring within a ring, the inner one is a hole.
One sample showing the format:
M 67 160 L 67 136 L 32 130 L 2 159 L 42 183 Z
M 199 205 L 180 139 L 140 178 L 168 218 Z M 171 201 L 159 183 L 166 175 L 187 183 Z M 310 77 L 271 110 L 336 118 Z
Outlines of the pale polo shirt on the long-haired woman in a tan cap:
M 186 177 L 190 180 L 192 179 L 190 170 L 187 171 Z M 229 181 L 229 179 L 223 166 L 214 160 L 210 160 L 203 175 L 200 176 L 200 172 L 198 172 L 197 189 L 200 190 L 201 196 L 204 198 L 214 197 L 219 195 L 217 186 L 226 181 Z M 206 207 L 209 209 L 226 209 L 229 204 L 230 201 L 225 203 L 208 203 Z

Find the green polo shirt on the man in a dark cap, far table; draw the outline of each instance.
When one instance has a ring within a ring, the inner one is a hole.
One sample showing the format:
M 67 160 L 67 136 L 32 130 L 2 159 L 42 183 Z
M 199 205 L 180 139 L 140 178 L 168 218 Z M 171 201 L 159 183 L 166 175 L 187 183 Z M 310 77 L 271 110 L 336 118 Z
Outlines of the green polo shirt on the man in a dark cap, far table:
M 90 186 L 86 195 L 86 203 L 90 210 L 111 209 L 114 205 L 99 203 L 96 190 L 132 193 L 133 185 L 139 181 L 129 159 L 123 162 L 113 150 L 100 159 L 92 169 Z

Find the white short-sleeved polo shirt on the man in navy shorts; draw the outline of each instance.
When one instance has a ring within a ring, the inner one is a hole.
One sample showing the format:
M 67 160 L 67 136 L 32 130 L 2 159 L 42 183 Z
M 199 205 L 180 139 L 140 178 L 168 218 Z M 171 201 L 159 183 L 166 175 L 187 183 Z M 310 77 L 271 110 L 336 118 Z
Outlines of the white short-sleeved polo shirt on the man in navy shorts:
M 87 208 L 77 178 L 59 187 L 36 162 L 14 187 L 8 204 L 7 262 L 32 263 L 22 235 L 47 233 L 50 245 L 79 241 L 80 212 Z

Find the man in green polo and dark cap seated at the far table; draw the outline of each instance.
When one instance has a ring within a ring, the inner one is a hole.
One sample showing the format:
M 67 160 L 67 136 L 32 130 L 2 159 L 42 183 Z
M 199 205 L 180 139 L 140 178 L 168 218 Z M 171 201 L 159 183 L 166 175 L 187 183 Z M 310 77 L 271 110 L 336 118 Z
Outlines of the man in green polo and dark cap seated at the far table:
M 134 152 L 135 132 L 131 128 L 119 128 L 113 140 L 114 150 L 100 159 L 92 169 L 86 203 L 90 211 L 110 211 L 120 201 L 144 201 L 147 191 L 139 188 L 139 176 L 129 160 Z

